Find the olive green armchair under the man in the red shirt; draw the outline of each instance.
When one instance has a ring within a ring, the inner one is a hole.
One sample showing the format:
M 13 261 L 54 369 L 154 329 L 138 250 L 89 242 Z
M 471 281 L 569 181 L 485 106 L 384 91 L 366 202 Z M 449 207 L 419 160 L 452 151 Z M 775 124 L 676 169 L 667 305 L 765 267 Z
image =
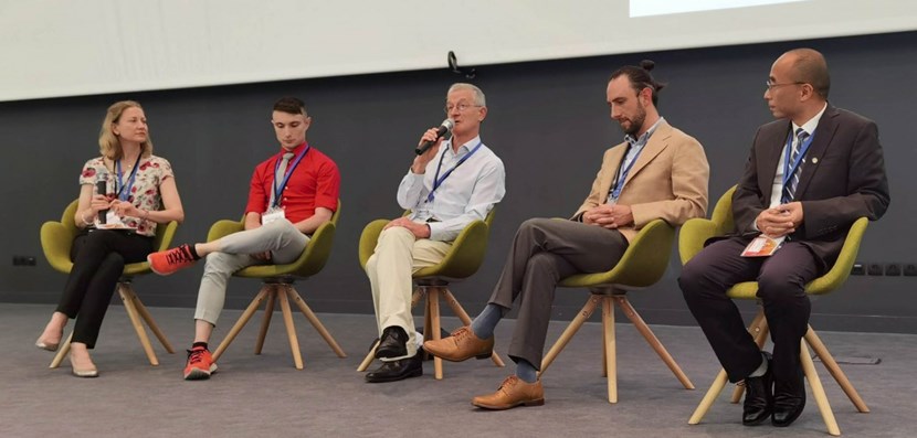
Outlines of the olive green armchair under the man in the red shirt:
M 331 253 L 331 244 L 334 243 L 335 229 L 337 228 L 339 216 L 340 201 L 338 201 L 338 209 L 331 215 L 331 220 L 322 224 L 313 233 L 308 245 L 306 245 L 303 254 L 295 261 L 286 265 L 250 266 L 233 274 L 235 277 L 259 278 L 263 280 L 263 284 L 255 298 L 245 311 L 242 312 L 242 316 L 213 352 L 213 362 L 217 362 L 223 355 L 223 352 L 226 351 L 235 336 L 239 335 L 239 332 L 249 323 L 265 300 L 267 300 L 267 305 L 264 309 L 261 331 L 255 343 L 255 354 L 261 354 L 261 350 L 264 346 L 264 338 L 267 334 L 267 328 L 271 325 L 271 317 L 274 313 L 274 305 L 276 301 L 280 301 L 284 324 L 286 325 L 286 335 L 289 341 L 289 350 L 293 354 L 293 363 L 297 370 L 303 370 L 303 355 L 299 353 L 299 341 L 296 336 L 296 327 L 293 323 L 293 312 L 289 307 L 289 301 L 292 300 L 318 334 L 325 339 L 328 346 L 339 357 L 347 357 L 347 354 L 344 353 L 344 350 L 341 350 L 340 345 L 331 336 L 331 333 L 325 329 L 325 325 L 322 324 L 318 317 L 315 316 L 308 305 L 306 305 L 306 301 L 303 300 L 303 297 L 294 288 L 297 278 L 304 279 L 312 277 L 325 267 L 325 263 L 328 261 L 328 256 Z M 244 229 L 244 218 L 242 221 L 219 221 L 210 227 L 207 241 L 212 242 L 229 234 L 241 232 L 242 229 Z

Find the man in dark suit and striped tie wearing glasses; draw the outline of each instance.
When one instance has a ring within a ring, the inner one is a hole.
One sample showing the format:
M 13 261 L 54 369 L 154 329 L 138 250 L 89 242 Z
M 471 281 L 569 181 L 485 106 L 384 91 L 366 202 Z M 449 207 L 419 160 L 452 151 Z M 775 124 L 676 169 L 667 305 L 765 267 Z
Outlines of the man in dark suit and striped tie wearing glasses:
M 888 181 L 876 124 L 828 103 L 821 53 L 797 49 L 771 67 L 765 100 L 777 121 L 758 128 L 732 195 L 736 229 L 708 243 L 682 270 L 682 291 L 730 382 L 748 389 L 742 424 L 771 414 L 789 426 L 805 405 L 800 342 L 811 305 L 805 285 L 837 258 L 856 218 L 879 218 Z M 770 256 L 740 256 L 752 239 L 777 243 Z M 773 356 L 759 351 L 726 290 L 758 281 Z

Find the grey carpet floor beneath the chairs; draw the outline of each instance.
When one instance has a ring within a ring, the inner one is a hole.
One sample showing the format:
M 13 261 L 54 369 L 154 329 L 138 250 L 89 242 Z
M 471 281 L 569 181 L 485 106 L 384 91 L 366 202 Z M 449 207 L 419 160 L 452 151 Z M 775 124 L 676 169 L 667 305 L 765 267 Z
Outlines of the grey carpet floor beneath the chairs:
M 150 309 L 177 349 L 193 334 L 192 309 Z M 276 313 L 262 355 L 252 354 L 260 314 L 220 360 L 209 381 L 185 382 L 185 353 L 167 354 L 150 366 L 122 306 L 113 306 L 93 359 L 101 376 L 70 375 L 70 364 L 48 368 L 53 353 L 33 346 L 51 306 L 0 303 L 0 437 L 825 437 L 815 404 L 791 427 L 744 427 L 740 405 L 728 402 L 731 385 L 700 425 L 687 419 L 718 365 L 696 327 L 653 325 L 662 342 L 697 386 L 684 389 L 629 323 L 619 323 L 618 404 L 609 404 L 601 367 L 601 324 L 587 323 L 544 376 L 546 404 L 507 412 L 470 405 L 512 374 L 489 361 L 445 364 L 435 381 L 432 362 L 424 375 L 368 384 L 356 367 L 376 335 L 366 314 L 319 314 L 348 353 L 337 357 L 299 314 L 296 318 L 305 370 L 293 367 L 282 318 Z M 224 312 L 219 342 L 240 311 Z M 598 320 L 598 316 L 593 316 Z M 620 321 L 625 321 L 623 318 Z M 497 329 L 504 355 L 514 320 Z M 455 319 L 444 318 L 447 329 Z M 549 343 L 566 322 L 552 322 Z M 913 435 L 917 383 L 916 335 L 820 333 L 839 360 L 879 357 L 876 365 L 842 364 L 872 408 L 858 414 L 819 366 L 841 430 L 846 437 Z M 154 340 L 155 342 L 155 340 Z M 375 365 L 373 365 L 375 366 Z

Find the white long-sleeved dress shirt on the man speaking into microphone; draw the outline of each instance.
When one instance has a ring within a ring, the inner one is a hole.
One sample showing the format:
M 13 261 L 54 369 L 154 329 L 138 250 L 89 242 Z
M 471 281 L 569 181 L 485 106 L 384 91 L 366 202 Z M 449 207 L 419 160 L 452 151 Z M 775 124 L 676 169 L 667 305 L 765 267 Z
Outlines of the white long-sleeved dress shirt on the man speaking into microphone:
M 456 153 L 452 149 L 452 141 L 443 140 L 440 151 L 426 163 L 423 174 L 409 170 L 401 179 L 398 204 L 411 211 L 411 221 L 428 223 L 431 241 L 454 241 L 472 221 L 483 221 L 506 194 L 503 161 L 481 143 L 481 149 L 455 169 L 436 189 L 433 200 L 428 202 L 436 178 L 436 168 L 440 168 L 442 178 L 478 143 L 479 136 L 458 147 Z

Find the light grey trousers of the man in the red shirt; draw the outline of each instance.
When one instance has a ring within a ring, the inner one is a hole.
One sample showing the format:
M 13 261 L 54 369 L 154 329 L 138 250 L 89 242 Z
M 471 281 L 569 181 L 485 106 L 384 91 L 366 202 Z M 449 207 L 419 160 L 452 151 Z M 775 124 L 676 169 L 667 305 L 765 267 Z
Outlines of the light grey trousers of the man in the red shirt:
M 207 255 L 207 264 L 198 290 L 194 319 L 217 325 L 226 298 L 226 281 L 239 269 L 265 264 L 293 263 L 303 254 L 309 237 L 299 233 L 287 220 L 274 221 L 254 229 L 233 233 L 217 241 L 220 250 Z M 271 261 L 251 256 L 271 252 Z

